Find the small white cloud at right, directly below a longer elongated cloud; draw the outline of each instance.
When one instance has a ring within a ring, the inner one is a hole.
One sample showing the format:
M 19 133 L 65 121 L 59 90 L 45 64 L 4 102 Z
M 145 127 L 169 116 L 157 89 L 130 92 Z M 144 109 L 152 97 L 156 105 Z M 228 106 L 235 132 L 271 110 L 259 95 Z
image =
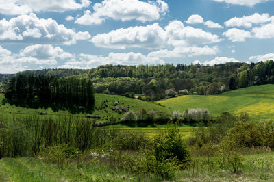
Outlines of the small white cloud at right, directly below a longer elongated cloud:
M 251 38 L 251 33 L 242 29 L 228 29 L 223 33 L 232 42 L 245 42 L 245 38 Z

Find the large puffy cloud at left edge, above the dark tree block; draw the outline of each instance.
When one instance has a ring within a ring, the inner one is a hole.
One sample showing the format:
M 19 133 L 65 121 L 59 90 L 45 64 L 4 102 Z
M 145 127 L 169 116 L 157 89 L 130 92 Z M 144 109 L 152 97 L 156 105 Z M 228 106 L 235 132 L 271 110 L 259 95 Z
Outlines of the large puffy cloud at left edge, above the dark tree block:
M 0 42 L 75 44 L 77 40 L 84 39 L 83 35 L 86 39 L 90 38 L 86 31 L 76 33 L 51 18 L 38 18 L 34 13 L 17 16 L 9 21 L 0 20 Z

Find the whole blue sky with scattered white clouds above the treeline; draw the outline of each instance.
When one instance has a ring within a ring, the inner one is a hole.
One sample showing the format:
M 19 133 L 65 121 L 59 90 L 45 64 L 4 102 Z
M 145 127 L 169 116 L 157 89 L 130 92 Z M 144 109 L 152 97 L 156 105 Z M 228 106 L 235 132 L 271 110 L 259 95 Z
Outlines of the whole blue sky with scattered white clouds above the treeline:
M 0 73 L 274 60 L 273 0 L 0 0 Z

